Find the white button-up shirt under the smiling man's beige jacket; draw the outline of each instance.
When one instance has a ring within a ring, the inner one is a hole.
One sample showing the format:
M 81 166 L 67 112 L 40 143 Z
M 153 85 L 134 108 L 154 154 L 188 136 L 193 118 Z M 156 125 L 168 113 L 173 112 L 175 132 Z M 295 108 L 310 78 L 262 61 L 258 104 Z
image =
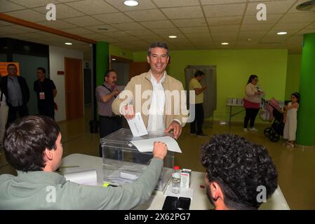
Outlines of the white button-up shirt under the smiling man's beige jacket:
M 151 73 L 151 72 L 150 72 Z M 149 119 L 147 123 L 148 132 L 164 132 L 165 125 L 163 121 L 163 113 L 165 107 L 165 92 L 162 83 L 166 78 L 165 71 L 161 80 L 158 81 L 151 73 L 151 83 L 153 87 L 152 99 L 149 109 Z

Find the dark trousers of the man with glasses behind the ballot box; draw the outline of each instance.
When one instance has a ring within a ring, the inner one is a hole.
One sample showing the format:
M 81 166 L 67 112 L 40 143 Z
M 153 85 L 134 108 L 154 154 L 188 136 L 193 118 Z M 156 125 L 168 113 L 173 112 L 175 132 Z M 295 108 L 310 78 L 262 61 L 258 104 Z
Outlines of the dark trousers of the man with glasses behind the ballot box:
M 109 118 L 109 117 L 100 116 L 100 139 L 120 129 L 121 129 L 121 117 L 116 116 L 116 117 Z M 99 154 L 100 154 L 100 157 L 103 156 L 101 145 L 99 147 Z M 113 156 L 114 155 L 108 155 L 107 158 L 113 158 Z

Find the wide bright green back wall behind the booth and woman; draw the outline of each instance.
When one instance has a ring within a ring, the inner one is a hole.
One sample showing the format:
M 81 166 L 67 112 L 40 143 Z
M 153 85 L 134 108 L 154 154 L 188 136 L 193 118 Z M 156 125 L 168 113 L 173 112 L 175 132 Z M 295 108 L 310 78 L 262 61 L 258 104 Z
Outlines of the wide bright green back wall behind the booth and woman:
M 217 110 L 215 120 L 228 119 L 227 97 L 242 98 L 250 74 L 259 76 L 266 98 L 283 100 L 286 91 L 288 50 L 174 50 L 170 52 L 168 73 L 185 84 L 188 65 L 217 66 Z M 146 52 L 135 52 L 135 62 L 144 62 Z M 236 109 L 237 110 L 237 109 Z M 243 114 L 233 121 L 243 120 Z M 257 122 L 261 122 L 257 119 Z

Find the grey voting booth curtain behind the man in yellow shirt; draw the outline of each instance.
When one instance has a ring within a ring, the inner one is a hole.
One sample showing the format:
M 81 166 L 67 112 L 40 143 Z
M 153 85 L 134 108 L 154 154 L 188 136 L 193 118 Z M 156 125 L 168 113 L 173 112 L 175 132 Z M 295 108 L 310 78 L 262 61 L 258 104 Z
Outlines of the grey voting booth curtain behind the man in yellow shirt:
M 216 66 L 187 66 L 185 68 L 185 87 L 189 90 L 189 81 L 194 78 L 196 71 L 201 70 L 205 76 L 201 80 L 201 85 L 207 88 L 203 94 L 203 110 L 205 118 L 213 117 L 213 111 L 217 109 L 217 73 Z M 189 94 L 187 94 L 187 106 L 189 106 Z

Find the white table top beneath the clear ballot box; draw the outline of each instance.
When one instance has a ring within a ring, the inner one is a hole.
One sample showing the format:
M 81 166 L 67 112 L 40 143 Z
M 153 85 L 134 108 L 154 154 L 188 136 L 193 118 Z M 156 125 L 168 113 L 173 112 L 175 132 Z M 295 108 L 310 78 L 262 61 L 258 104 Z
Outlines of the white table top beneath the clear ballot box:
M 62 167 L 66 166 L 79 167 L 63 168 L 62 172 L 69 173 L 80 170 L 96 169 L 96 172 L 98 174 L 98 185 L 102 186 L 104 176 L 102 168 L 102 158 L 75 153 L 63 158 Z M 204 186 L 204 174 L 201 172 L 192 172 L 191 188 L 194 189 L 194 198 L 190 204 L 191 210 L 213 209 L 213 206 L 210 204 L 210 202 L 208 201 L 208 197 L 206 196 L 206 190 L 200 188 L 201 185 Z M 161 210 L 164 200 L 165 197 L 163 195 L 163 192 L 155 191 L 147 202 L 141 204 L 135 209 Z M 274 192 L 274 195 L 272 195 L 272 197 L 267 200 L 267 203 L 263 203 L 260 209 L 288 210 L 290 208 L 281 192 L 280 187 L 278 186 L 278 188 Z

